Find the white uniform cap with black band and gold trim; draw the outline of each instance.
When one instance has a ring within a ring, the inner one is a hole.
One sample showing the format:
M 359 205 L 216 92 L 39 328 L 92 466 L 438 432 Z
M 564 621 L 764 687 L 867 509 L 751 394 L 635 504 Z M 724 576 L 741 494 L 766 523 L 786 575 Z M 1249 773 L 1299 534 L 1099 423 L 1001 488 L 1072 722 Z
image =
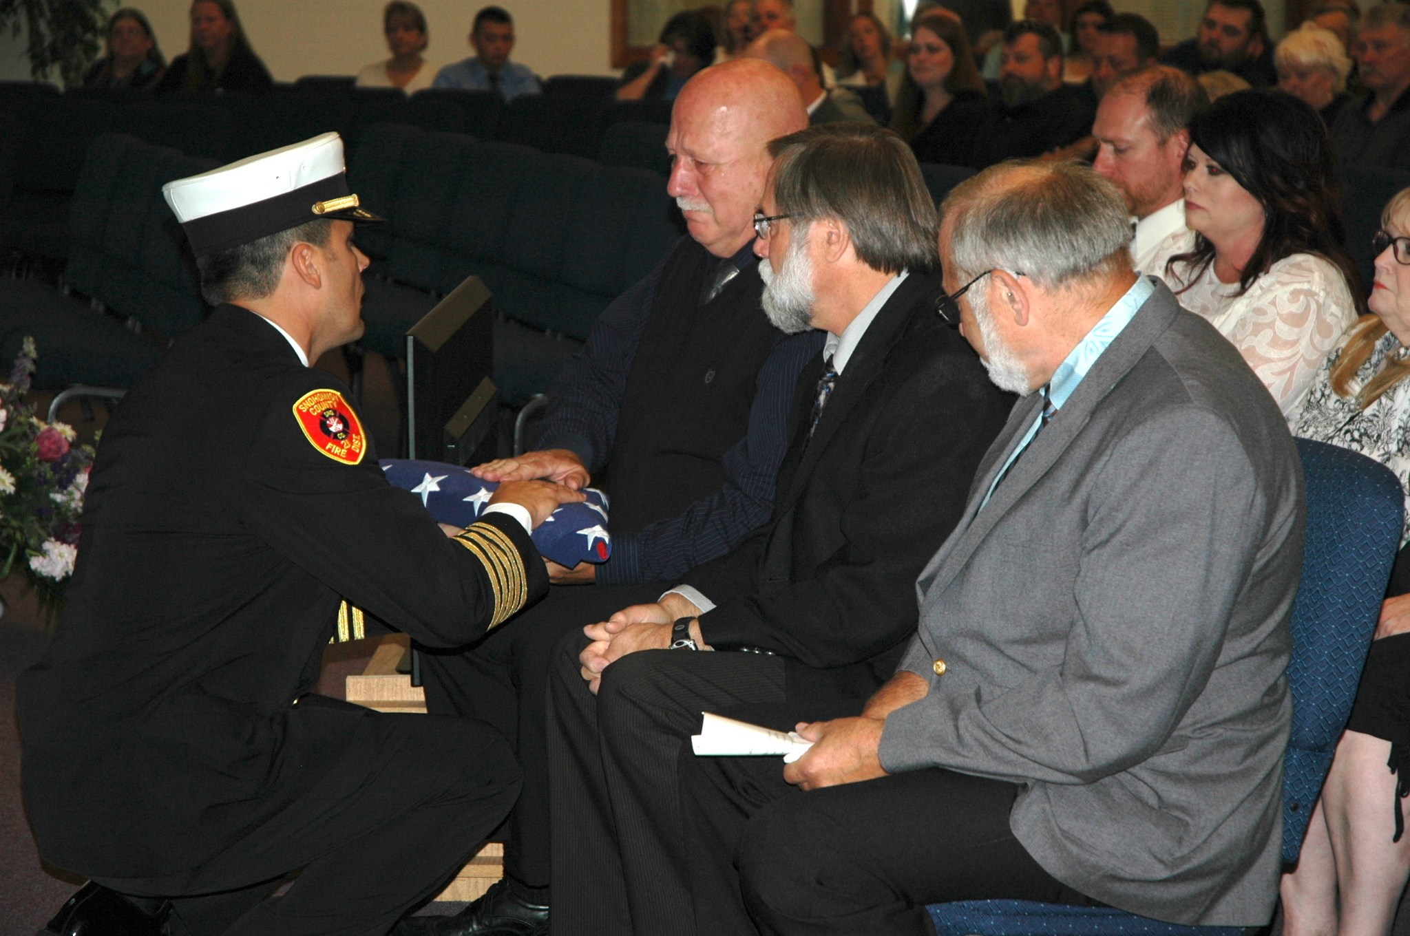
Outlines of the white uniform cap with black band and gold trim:
M 196 257 L 316 218 L 381 221 L 358 207 L 343 168 L 343 138 L 326 133 L 162 186 Z

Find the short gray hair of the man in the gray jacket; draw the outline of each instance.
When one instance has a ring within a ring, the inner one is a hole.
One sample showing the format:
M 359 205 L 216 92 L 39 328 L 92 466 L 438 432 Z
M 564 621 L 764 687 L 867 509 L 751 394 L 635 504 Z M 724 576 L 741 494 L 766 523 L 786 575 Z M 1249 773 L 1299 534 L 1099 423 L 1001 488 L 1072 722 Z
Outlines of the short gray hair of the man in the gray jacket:
M 1131 269 L 1121 195 L 1077 162 L 1003 162 L 955 186 L 940 214 L 962 281 L 998 268 L 1063 289 Z

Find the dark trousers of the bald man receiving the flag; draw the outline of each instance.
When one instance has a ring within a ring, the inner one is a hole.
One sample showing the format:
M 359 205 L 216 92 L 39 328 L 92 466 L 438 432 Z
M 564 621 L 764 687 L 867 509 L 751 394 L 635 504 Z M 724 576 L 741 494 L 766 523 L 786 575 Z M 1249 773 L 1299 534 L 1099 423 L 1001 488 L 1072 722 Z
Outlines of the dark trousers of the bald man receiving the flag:
M 544 695 L 548 658 L 565 633 L 606 620 L 627 605 L 656 601 L 664 585 L 563 585 L 485 637 L 458 650 L 423 650 L 426 708 L 496 727 L 523 767 L 519 802 L 501 830 L 505 875 L 529 888 L 548 885 L 548 757 Z M 534 902 L 547 904 L 537 894 Z

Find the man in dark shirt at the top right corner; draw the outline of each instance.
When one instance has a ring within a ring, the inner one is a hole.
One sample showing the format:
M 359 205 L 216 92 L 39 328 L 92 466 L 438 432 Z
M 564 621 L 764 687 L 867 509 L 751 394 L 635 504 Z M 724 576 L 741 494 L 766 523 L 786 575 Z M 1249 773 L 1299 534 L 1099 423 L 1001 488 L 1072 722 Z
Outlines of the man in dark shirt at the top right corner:
M 1337 159 L 1410 169 L 1410 7 L 1382 3 L 1366 10 L 1352 49 L 1356 76 L 1371 94 L 1337 114 L 1331 125 Z

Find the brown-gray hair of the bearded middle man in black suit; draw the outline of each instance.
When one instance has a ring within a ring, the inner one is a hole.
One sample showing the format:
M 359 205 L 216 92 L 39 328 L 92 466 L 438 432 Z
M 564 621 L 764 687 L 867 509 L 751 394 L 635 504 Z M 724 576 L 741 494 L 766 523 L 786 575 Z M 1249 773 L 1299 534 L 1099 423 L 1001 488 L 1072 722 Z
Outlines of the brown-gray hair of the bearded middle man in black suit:
M 774 204 L 797 224 L 842 221 L 857 258 L 898 273 L 939 266 L 935 200 L 905 141 L 870 124 L 819 124 L 768 144 Z

